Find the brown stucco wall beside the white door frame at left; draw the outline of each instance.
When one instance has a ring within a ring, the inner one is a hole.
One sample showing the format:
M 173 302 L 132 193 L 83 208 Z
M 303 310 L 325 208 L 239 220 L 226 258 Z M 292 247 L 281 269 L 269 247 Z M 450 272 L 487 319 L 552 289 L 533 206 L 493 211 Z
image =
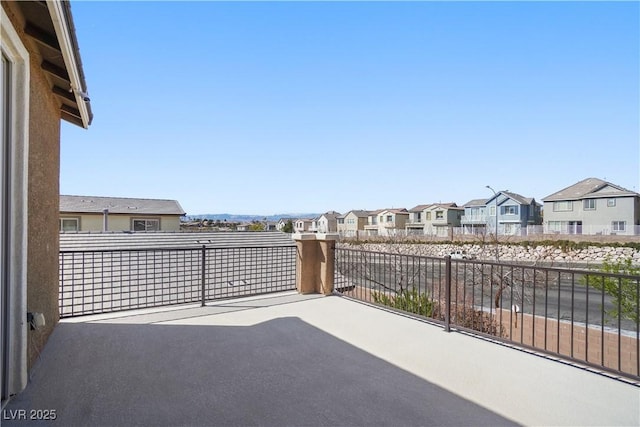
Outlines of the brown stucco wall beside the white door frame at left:
M 58 321 L 60 106 L 40 68 L 42 58 L 24 34 L 20 10 L 12 2 L 2 7 L 30 55 L 27 312 L 43 313 L 46 321 L 40 330 L 28 331 L 30 368 Z

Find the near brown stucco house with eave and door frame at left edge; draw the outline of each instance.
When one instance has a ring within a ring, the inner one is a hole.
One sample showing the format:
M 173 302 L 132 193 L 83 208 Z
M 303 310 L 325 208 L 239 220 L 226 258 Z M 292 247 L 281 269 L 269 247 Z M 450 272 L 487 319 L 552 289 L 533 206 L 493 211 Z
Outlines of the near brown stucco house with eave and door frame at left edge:
M 2 404 L 58 322 L 60 120 L 92 120 L 70 5 L 0 7 Z

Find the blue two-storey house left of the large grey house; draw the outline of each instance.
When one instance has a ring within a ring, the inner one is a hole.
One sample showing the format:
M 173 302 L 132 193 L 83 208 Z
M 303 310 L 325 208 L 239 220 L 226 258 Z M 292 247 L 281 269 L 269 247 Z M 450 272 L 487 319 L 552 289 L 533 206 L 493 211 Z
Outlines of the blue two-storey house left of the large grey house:
M 508 191 L 472 200 L 464 209 L 461 225 L 465 233 L 526 235 L 528 226 L 542 223 L 541 205 L 534 198 Z

